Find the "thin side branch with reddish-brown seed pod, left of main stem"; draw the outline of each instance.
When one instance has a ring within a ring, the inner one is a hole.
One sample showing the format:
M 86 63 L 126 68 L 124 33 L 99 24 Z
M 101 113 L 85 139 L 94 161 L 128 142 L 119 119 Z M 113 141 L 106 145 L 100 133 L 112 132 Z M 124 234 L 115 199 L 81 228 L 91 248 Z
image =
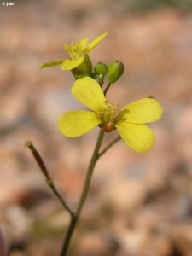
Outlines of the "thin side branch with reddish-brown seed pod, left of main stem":
M 61 201 L 61 205 L 67 210 L 67 212 L 70 213 L 71 217 L 73 217 L 73 212 L 72 210 L 67 206 L 66 201 L 64 201 L 60 195 L 60 193 L 57 191 L 55 188 L 55 184 L 53 183 L 52 178 L 49 176 L 49 172 L 47 170 L 47 167 L 44 164 L 44 160 L 42 159 L 41 155 L 38 153 L 38 150 L 33 146 L 31 141 L 26 142 L 26 147 L 29 148 L 32 152 L 32 155 L 36 162 L 38 163 L 38 166 L 43 172 L 44 177 L 46 177 L 46 183 L 48 184 L 49 188 L 52 189 L 53 193 L 57 196 L 59 201 Z

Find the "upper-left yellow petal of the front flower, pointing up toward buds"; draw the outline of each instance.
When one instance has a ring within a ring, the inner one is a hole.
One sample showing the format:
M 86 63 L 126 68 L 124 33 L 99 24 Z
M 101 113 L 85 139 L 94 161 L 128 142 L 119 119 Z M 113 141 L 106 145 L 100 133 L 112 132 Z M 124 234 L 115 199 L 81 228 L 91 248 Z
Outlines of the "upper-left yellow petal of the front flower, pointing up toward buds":
M 90 77 L 76 80 L 72 87 L 72 93 L 79 102 L 96 113 L 101 112 L 105 107 L 106 99 L 102 88 L 96 80 Z

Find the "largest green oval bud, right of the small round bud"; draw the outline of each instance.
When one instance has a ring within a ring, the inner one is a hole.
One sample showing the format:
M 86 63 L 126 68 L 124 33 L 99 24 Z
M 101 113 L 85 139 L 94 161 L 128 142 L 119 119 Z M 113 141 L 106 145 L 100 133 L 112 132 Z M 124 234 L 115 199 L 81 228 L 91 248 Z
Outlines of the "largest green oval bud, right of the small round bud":
M 108 66 L 108 82 L 113 84 L 124 73 L 124 64 L 120 61 L 113 61 Z

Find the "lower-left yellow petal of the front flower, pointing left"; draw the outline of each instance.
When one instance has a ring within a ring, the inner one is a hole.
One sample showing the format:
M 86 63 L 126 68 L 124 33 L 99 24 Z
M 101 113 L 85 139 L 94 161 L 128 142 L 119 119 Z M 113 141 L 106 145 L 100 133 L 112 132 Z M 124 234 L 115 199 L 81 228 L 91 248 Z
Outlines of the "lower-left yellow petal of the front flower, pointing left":
M 59 130 L 67 137 L 78 137 L 101 123 L 94 112 L 75 110 L 63 113 L 58 120 Z

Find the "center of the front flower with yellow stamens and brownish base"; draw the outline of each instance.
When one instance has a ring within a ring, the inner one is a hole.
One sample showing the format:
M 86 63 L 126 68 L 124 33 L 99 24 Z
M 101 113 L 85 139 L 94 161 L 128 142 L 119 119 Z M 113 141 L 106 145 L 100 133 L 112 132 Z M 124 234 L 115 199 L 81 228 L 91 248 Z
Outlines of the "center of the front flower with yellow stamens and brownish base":
M 114 115 L 116 113 L 117 104 L 111 105 L 106 102 L 106 106 L 102 109 L 102 112 L 99 113 L 102 124 L 99 125 L 102 127 L 103 131 L 111 132 L 115 129 L 114 127 Z

